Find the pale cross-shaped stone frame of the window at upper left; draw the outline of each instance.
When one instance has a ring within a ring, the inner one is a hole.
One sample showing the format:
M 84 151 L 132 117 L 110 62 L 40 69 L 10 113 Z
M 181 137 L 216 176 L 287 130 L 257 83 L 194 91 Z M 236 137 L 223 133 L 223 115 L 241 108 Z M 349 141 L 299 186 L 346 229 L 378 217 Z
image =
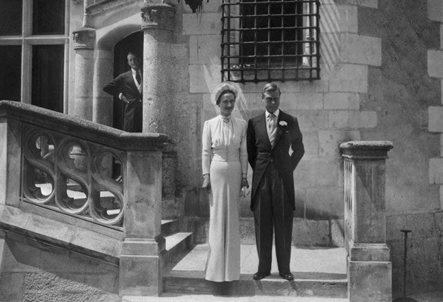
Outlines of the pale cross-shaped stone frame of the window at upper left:
M 63 113 L 68 112 L 68 77 L 69 77 L 69 43 L 70 43 L 70 0 L 65 1 L 65 32 L 64 34 L 32 34 L 32 8 L 34 1 L 21 0 L 22 34 L 0 36 L 0 46 L 22 46 L 20 98 L 23 103 L 32 101 L 32 46 L 34 45 L 63 45 L 64 75 L 63 75 Z

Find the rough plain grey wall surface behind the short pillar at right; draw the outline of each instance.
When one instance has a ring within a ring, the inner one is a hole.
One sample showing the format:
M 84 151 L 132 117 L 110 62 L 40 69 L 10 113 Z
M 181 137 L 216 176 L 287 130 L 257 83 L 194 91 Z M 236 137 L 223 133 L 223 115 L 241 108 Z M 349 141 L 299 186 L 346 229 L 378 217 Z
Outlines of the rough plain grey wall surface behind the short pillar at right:
M 391 140 L 386 166 L 386 232 L 393 296 L 402 294 L 404 239 L 409 228 L 409 294 L 442 288 L 439 162 L 441 79 L 438 78 L 441 1 L 379 0 L 378 10 L 359 8 L 359 32 L 382 41 L 382 64 L 368 69 L 361 110 L 374 111 L 377 127 L 363 140 Z M 437 133 L 435 133 L 437 132 Z

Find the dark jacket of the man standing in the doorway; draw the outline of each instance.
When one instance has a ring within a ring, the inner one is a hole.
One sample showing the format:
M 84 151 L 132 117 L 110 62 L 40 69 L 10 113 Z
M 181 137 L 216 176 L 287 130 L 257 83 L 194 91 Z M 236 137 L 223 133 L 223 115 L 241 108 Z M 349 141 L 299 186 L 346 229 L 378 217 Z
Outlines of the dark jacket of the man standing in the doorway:
M 120 74 L 118 77 L 110 81 L 103 87 L 103 91 L 113 96 L 119 96 L 120 93 L 123 93 L 129 102 L 143 100 L 139 89 L 137 89 L 137 86 L 134 83 L 131 70 Z

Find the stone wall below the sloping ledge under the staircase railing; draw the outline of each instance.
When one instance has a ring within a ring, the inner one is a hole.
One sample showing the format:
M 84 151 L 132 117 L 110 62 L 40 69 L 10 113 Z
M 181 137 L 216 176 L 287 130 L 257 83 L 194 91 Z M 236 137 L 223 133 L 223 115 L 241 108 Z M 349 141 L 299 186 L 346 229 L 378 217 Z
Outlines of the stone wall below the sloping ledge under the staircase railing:
M 118 265 L 0 231 L 0 301 L 120 301 Z

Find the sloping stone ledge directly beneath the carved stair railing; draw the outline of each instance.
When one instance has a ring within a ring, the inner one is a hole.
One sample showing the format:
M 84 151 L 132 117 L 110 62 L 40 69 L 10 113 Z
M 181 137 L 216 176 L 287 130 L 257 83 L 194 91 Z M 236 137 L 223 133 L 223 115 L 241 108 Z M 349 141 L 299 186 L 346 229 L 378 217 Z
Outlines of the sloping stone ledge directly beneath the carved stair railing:
M 77 251 L 110 263 L 119 263 L 122 242 L 77 225 L 25 213 L 13 206 L 0 206 L 0 228 L 32 239 Z

